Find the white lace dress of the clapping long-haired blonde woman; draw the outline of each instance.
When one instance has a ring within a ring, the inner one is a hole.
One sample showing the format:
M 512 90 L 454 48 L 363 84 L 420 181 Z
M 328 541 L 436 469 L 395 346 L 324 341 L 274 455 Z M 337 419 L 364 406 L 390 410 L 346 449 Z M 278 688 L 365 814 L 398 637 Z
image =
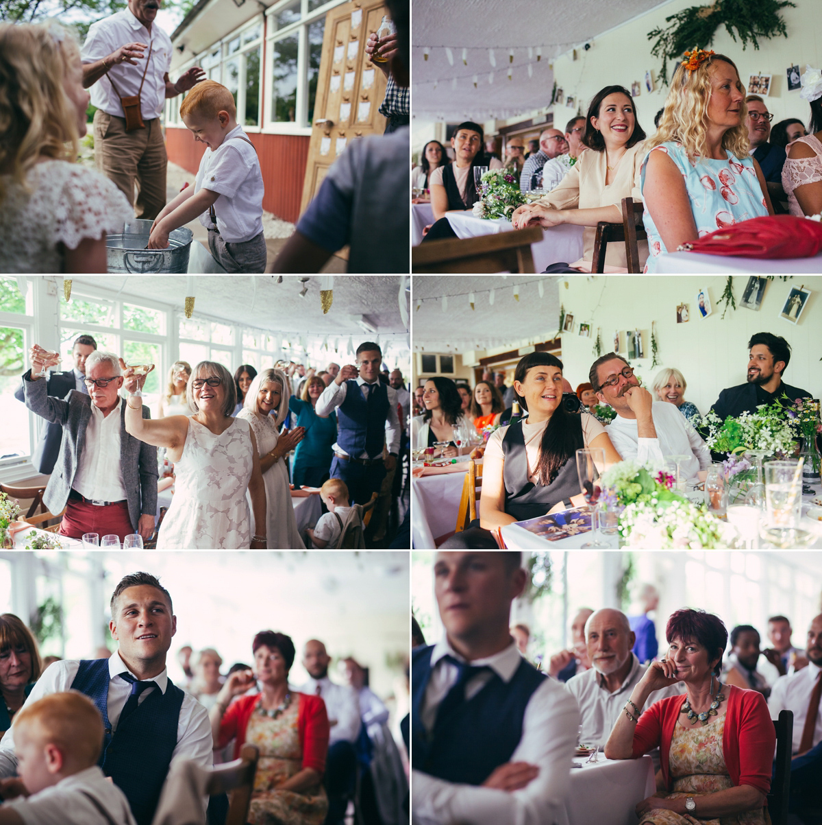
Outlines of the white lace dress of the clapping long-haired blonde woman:
M 277 446 L 279 433 L 272 416 L 259 416 L 249 409 L 237 413 L 237 421 L 250 422 L 257 439 L 259 455 L 270 453 Z M 288 471 L 283 459 L 275 461 L 263 474 L 265 482 L 265 500 L 268 525 L 265 533 L 266 544 L 272 550 L 304 550 L 306 545 L 300 538 L 297 517 L 291 502 L 291 490 L 288 488 Z M 251 514 L 252 535 L 257 530 L 254 526 L 254 513 Z

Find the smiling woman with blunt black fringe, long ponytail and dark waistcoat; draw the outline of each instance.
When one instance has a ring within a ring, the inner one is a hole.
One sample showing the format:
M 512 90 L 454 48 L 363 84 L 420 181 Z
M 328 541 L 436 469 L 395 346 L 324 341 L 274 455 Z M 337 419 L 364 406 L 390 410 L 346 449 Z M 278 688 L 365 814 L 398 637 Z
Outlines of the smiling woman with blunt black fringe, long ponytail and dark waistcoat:
M 479 525 L 442 544 L 449 548 L 497 547 L 489 530 L 571 507 L 581 495 L 577 450 L 605 450 L 605 467 L 620 458 L 605 427 L 588 413 L 563 406 L 563 362 L 531 352 L 516 365 L 514 390 L 527 419 L 500 427 L 488 439 L 483 462 Z M 605 467 L 598 467 L 600 473 Z

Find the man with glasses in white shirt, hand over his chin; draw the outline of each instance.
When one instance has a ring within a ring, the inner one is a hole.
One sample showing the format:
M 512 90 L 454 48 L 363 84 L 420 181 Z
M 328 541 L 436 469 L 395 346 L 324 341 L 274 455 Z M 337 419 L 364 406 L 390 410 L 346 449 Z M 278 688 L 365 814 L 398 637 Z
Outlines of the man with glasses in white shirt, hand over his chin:
M 662 463 L 666 456 L 687 455 L 680 463 L 686 479 L 711 464 L 708 446 L 688 419 L 675 404 L 654 401 L 624 358 L 615 352 L 597 358 L 589 378 L 600 403 L 616 410 L 607 432 L 623 459 Z

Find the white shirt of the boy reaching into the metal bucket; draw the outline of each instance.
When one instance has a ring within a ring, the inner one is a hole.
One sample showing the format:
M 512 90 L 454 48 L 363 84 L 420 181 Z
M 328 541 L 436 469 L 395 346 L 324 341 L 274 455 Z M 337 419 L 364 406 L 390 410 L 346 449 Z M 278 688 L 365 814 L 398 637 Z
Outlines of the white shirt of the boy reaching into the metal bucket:
M 257 153 L 237 125 L 214 151 L 206 148 L 194 181 L 194 194 L 205 188 L 218 192 L 214 201 L 217 229 L 227 243 L 250 241 L 263 231 L 263 172 Z M 206 229 L 213 227 L 206 210 L 199 221 Z

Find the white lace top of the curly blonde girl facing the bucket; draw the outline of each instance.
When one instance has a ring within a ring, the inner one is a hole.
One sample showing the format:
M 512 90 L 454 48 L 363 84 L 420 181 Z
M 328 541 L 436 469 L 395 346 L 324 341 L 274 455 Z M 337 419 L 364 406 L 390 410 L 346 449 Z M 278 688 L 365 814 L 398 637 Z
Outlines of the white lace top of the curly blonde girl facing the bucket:
M 65 244 L 123 231 L 134 211 L 124 194 L 100 172 L 77 163 L 47 160 L 26 177 L 30 191 L 3 176 L 0 204 L 0 271 L 62 272 Z

